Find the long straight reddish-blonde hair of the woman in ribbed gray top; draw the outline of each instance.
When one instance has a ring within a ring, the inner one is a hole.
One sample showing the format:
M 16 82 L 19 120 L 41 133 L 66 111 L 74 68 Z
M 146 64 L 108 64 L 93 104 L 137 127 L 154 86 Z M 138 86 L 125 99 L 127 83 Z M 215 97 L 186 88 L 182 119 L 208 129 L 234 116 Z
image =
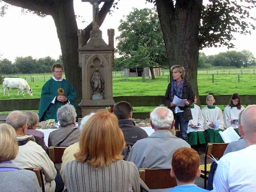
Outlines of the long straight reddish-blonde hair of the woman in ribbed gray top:
M 95 167 L 123 159 L 125 141 L 117 117 L 106 110 L 96 112 L 84 125 L 79 146 L 76 160 Z

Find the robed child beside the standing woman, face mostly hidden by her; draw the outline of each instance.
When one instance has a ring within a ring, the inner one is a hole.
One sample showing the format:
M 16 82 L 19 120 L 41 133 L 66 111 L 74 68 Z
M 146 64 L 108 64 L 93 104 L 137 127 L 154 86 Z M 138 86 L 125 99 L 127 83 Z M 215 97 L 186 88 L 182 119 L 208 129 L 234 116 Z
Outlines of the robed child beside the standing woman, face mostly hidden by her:
M 196 105 L 197 98 L 192 105 L 189 106 L 193 119 L 188 122 L 188 143 L 190 145 L 204 144 L 204 118 L 201 108 Z

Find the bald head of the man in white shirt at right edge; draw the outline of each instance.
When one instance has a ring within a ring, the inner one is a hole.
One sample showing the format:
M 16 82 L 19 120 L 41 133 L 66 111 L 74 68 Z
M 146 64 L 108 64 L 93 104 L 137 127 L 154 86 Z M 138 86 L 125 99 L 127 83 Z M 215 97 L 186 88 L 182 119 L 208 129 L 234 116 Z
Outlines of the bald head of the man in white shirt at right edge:
M 245 137 L 256 134 L 256 105 L 250 105 L 243 111 L 241 125 Z

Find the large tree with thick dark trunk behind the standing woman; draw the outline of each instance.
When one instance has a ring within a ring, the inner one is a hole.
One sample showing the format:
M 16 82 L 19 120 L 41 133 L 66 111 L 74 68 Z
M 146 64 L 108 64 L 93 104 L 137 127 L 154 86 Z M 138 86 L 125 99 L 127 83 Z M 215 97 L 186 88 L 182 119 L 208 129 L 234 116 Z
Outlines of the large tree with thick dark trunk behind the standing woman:
M 201 48 L 234 44 L 233 32 L 249 34 L 254 25 L 249 10 L 255 0 L 146 0 L 155 3 L 164 36 L 168 64 L 186 69 L 186 78 L 198 96 L 197 67 Z M 248 20 L 247 20 L 248 19 Z

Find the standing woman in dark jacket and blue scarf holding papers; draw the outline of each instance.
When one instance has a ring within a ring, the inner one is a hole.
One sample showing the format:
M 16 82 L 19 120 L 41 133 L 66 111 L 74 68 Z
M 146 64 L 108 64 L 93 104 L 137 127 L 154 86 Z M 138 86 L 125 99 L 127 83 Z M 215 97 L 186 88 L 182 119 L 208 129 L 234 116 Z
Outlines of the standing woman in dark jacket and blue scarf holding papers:
M 188 121 L 192 119 L 189 106 L 194 102 L 194 92 L 190 83 L 186 81 L 183 66 L 174 65 L 171 68 L 173 81 L 168 84 L 164 105 L 174 114 L 175 128 L 179 128 L 177 136 L 188 141 Z

